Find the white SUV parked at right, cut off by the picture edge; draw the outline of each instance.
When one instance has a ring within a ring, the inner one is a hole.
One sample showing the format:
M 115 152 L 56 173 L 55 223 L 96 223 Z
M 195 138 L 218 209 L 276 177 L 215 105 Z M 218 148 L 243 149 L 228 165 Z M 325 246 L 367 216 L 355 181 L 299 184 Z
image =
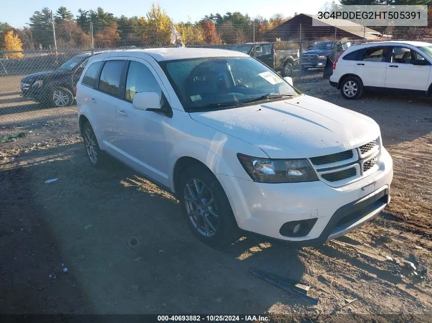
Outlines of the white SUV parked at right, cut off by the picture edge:
M 401 90 L 432 94 L 432 44 L 387 41 L 352 45 L 334 62 L 330 84 L 349 99 L 363 90 Z

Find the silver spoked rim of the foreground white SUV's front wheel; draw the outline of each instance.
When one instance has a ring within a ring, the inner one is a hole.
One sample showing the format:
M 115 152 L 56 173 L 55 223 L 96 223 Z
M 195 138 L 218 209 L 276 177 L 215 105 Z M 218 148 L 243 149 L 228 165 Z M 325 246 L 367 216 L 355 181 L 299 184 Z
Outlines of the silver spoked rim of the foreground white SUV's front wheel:
M 206 184 L 196 178 L 185 186 L 184 201 L 186 212 L 194 228 L 203 236 L 213 236 L 219 225 L 216 203 Z

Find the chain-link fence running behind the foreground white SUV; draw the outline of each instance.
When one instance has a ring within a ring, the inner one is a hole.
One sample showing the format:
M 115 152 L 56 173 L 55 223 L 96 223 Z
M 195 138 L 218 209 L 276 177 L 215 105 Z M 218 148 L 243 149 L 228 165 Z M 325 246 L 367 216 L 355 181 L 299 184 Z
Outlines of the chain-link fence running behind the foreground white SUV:
M 295 83 L 301 83 L 323 78 L 327 58 L 334 61 L 348 46 L 366 41 L 317 38 L 307 41 L 187 46 L 243 52 L 256 57 L 282 76 L 292 77 Z M 92 52 L 127 48 L 0 52 L 0 126 L 75 114 L 73 88 Z

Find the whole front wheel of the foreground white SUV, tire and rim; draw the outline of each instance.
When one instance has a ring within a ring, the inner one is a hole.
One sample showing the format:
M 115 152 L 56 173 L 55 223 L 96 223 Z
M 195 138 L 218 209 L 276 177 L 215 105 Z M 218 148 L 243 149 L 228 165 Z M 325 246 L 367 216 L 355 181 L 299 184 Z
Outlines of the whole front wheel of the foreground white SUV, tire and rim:
M 184 172 L 179 195 L 189 228 L 201 242 L 219 249 L 239 238 L 228 197 L 206 167 L 196 165 Z

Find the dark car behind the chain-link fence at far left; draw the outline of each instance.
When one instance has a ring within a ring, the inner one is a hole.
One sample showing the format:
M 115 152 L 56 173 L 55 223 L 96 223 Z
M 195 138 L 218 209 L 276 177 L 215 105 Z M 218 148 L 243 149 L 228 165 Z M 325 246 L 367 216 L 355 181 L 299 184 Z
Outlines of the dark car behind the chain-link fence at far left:
M 55 70 L 38 72 L 22 78 L 22 97 L 56 107 L 72 105 L 75 101 L 73 88 L 90 56 L 92 53 L 79 54 Z

